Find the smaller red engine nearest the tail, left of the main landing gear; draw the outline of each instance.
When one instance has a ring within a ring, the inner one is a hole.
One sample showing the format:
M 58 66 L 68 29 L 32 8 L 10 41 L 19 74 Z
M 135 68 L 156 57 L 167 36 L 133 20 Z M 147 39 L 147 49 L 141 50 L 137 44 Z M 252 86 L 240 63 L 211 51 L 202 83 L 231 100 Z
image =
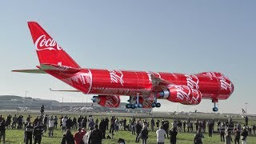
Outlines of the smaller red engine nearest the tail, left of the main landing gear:
M 121 102 L 119 95 L 98 95 L 94 96 L 92 101 L 105 107 L 118 107 Z

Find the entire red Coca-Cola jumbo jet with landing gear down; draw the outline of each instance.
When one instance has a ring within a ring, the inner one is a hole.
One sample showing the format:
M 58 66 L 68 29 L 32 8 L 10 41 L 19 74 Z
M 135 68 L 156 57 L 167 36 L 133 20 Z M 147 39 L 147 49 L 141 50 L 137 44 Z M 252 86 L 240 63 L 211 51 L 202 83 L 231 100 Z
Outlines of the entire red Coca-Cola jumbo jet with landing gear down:
M 118 107 L 120 95 L 130 96 L 126 108 L 160 107 L 158 98 L 184 105 L 198 105 L 202 99 L 216 102 L 230 97 L 234 85 L 219 72 L 178 74 L 131 70 L 102 70 L 81 68 L 76 62 L 38 25 L 28 22 L 40 66 L 34 70 L 15 72 L 50 74 L 74 87 L 83 94 L 98 94 L 92 98 L 101 106 Z

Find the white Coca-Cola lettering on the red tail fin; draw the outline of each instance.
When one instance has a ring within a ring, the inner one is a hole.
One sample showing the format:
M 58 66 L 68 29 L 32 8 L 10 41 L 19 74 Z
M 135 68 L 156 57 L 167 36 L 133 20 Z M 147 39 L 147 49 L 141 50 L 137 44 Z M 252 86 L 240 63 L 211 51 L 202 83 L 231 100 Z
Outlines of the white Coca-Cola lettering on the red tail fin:
M 46 35 L 41 35 L 35 42 L 36 50 L 62 50 L 54 39 L 46 38 Z

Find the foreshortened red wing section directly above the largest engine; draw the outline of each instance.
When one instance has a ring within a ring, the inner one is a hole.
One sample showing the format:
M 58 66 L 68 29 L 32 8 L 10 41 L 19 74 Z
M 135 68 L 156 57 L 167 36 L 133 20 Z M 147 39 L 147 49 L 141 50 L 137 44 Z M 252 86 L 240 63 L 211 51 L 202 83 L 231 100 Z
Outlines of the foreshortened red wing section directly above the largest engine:
M 156 77 L 154 74 L 150 74 L 151 82 L 152 82 L 152 90 L 153 91 L 162 91 L 166 90 L 168 86 L 172 85 L 173 83 L 166 81 L 162 78 Z

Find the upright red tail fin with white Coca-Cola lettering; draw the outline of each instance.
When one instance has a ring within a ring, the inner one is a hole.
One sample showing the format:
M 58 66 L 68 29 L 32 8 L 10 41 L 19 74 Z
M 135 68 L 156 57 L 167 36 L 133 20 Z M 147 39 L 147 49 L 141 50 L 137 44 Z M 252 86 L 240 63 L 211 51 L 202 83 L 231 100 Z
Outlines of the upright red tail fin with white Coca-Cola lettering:
M 80 68 L 76 62 L 62 50 L 62 47 L 38 25 L 38 22 L 28 22 L 30 33 L 38 54 L 40 64 L 70 66 Z

